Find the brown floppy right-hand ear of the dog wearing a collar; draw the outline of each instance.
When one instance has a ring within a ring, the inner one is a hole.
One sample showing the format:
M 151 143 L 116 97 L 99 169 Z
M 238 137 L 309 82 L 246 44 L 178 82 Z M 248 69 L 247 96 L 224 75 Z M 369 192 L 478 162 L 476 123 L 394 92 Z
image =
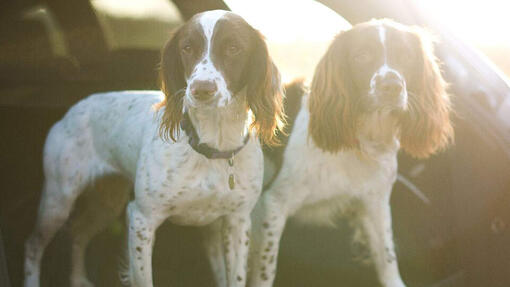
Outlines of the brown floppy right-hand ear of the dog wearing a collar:
M 284 125 L 283 94 L 280 72 L 269 56 L 264 37 L 252 28 L 254 46 L 248 64 L 247 100 L 253 112 L 251 128 L 255 129 L 261 142 L 278 144 L 275 136 Z

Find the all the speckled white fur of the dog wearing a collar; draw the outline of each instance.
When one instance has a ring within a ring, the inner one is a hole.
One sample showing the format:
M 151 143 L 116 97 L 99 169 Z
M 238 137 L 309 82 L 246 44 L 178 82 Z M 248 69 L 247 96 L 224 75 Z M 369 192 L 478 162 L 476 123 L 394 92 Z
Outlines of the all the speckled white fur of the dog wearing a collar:
M 200 141 L 219 150 L 239 147 L 250 123 L 245 92 L 232 98 L 211 61 L 214 28 L 225 13 L 205 12 L 198 18 L 207 48 L 187 79 L 183 105 Z M 189 85 L 197 79 L 216 81 L 221 109 L 194 103 Z M 71 286 L 92 287 L 84 265 L 86 247 L 92 236 L 123 210 L 133 186 L 134 200 L 127 207 L 129 264 L 122 277 L 125 283 L 153 285 L 154 234 L 168 219 L 182 225 L 207 225 L 206 251 L 218 285 L 245 285 L 250 212 L 262 189 L 260 143 L 250 136 L 230 167 L 227 160 L 210 160 L 194 151 L 183 131 L 176 142 L 164 141 L 159 124 L 165 108 L 154 110 L 154 104 L 162 99 L 161 92 L 148 91 L 95 94 L 73 106 L 52 127 L 44 148 L 45 185 L 37 224 L 25 245 L 25 287 L 39 286 L 46 245 L 68 219 L 78 196 L 94 190 L 106 194 L 107 200 L 97 205 L 88 202 L 88 210 L 77 213 L 77 219 L 70 222 Z M 236 179 L 233 189 L 228 184 L 231 174 Z M 103 210 L 104 205 L 110 208 Z M 87 219 L 91 212 L 95 221 Z M 97 216 L 103 213 L 107 216 Z

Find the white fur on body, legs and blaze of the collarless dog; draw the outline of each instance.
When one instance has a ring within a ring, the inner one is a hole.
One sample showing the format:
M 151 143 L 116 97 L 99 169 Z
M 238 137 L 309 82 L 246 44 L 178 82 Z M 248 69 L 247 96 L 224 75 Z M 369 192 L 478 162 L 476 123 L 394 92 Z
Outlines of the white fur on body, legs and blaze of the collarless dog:
M 387 63 L 385 28 L 380 26 L 377 31 L 384 61 L 372 77 L 373 94 L 376 76 L 396 72 Z M 349 212 L 366 235 L 382 286 L 405 287 L 394 251 L 389 202 L 400 148 L 393 119 L 383 112 L 364 116 L 357 127 L 359 150 L 330 153 L 310 140 L 308 98 L 303 97 L 281 170 L 252 213 L 248 286 L 273 285 L 287 218 L 332 226 L 339 214 Z

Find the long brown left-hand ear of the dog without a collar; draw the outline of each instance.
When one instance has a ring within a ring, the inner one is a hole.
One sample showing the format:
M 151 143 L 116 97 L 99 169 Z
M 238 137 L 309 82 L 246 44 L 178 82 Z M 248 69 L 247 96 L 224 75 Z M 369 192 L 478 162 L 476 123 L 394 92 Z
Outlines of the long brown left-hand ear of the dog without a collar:
M 322 150 L 355 148 L 357 112 L 349 87 L 346 36 L 340 33 L 315 69 L 310 89 L 309 135 Z

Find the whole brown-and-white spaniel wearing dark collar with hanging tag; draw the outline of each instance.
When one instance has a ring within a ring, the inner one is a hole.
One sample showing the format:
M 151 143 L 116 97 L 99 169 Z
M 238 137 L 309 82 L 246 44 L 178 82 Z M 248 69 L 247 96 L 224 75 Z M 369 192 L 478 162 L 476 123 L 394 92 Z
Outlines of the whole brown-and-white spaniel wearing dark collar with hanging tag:
M 250 212 L 262 189 L 259 140 L 275 143 L 282 126 L 278 70 L 258 31 L 216 10 L 194 16 L 164 47 L 161 80 L 163 93 L 92 95 L 50 130 L 25 286 L 39 286 L 44 248 L 68 218 L 71 285 L 92 286 L 86 246 L 120 214 L 132 186 L 126 283 L 153 285 L 154 234 L 169 219 L 208 225 L 218 285 L 245 285 Z

